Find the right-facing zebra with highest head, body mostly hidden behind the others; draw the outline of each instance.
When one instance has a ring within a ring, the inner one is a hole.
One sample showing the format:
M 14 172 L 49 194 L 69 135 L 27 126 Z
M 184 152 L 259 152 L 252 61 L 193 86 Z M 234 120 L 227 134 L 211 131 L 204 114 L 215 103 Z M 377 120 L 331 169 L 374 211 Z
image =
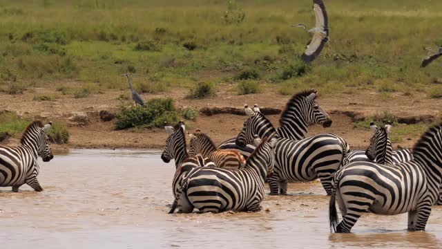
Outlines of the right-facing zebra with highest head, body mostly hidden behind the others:
M 285 109 L 280 116 L 280 127 L 276 130 L 281 138 L 300 140 L 305 138 L 309 124 L 320 124 L 323 127 L 330 127 L 332 119 L 316 102 L 318 91 L 309 89 L 294 94 L 287 102 Z M 236 145 L 236 138 L 231 138 L 218 149 L 238 149 L 247 158 L 255 149 L 251 144 L 241 148 Z

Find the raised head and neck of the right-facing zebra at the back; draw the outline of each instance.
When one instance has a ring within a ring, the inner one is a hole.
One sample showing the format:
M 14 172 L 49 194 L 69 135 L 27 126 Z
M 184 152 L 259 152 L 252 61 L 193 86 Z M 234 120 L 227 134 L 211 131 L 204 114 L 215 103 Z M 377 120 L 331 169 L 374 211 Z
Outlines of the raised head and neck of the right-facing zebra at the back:
M 315 89 L 293 95 L 281 113 L 280 126 L 302 129 L 305 133 L 307 133 L 308 124 L 330 127 L 332 119 L 316 102 L 317 95 L 318 91 Z

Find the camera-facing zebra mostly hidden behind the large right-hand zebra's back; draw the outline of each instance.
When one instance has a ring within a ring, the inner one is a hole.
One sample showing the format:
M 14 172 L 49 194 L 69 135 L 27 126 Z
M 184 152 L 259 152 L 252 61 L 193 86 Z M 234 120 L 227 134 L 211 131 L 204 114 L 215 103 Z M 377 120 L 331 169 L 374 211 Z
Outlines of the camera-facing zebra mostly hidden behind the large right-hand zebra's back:
M 393 151 L 392 143 L 390 142 L 390 138 L 388 137 L 388 134 L 392 129 L 392 126 L 390 124 L 386 124 L 385 129 L 381 130 L 378 129 L 378 127 L 374 124 L 374 122 L 370 122 L 370 129 L 374 132 L 372 139 L 374 139 L 375 136 L 381 136 L 381 138 L 385 139 L 385 142 L 383 142 L 382 144 L 383 150 L 379 149 L 378 154 L 374 154 L 376 156 L 374 156 L 373 159 L 367 158 L 365 150 L 352 151 L 349 154 L 347 154 L 347 156 L 345 156 L 343 165 L 347 165 L 353 162 L 376 162 L 379 164 L 397 164 L 397 163 L 404 163 L 413 159 L 412 151 L 410 151 L 410 149 L 398 149 L 397 151 Z

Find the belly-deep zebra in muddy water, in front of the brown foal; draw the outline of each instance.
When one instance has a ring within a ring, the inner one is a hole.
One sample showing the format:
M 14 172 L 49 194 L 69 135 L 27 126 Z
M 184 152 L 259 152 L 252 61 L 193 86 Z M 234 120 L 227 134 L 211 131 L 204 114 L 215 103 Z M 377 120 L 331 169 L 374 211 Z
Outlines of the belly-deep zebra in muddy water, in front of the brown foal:
M 275 156 L 271 142 L 264 138 L 242 169 L 220 169 L 198 167 L 192 169 L 183 180 L 177 201 L 182 212 L 190 213 L 194 208 L 200 212 L 257 212 L 264 199 L 267 176 L 273 173 Z

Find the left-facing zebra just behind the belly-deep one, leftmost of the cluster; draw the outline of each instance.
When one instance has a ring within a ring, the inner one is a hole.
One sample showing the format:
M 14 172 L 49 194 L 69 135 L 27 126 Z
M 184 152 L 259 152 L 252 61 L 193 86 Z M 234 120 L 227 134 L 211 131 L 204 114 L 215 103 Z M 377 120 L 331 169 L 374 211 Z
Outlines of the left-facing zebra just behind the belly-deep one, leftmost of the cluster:
M 186 135 L 184 124 L 177 124 L 173 129 L 166 129 L 169 137 L 166 139 L 166 148 L 161 154 L 164 163 L 175 159 L 175 174 L 172 181 L 173 196 L 176 197 L 182 184 L 182 178 L 195 167 L 215 167 L 215 164 L 201 155 L 189 156 L 186 149 Z

